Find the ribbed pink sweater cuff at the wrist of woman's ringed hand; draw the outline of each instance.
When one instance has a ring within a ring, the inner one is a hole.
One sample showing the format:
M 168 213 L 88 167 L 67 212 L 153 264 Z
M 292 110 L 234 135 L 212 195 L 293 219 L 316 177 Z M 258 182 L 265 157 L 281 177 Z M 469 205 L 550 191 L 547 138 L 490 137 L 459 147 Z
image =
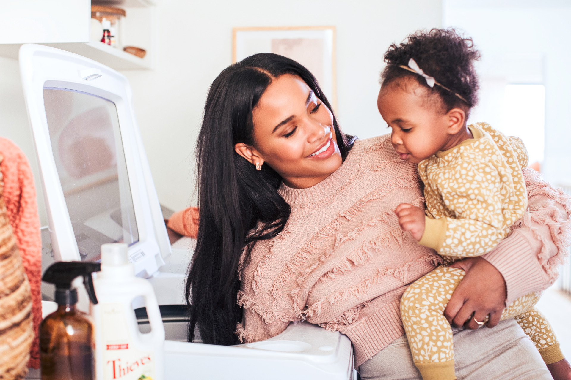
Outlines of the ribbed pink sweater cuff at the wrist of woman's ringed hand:
M 518 232 L 498 244 L 496 249 L 482 256 L 504 276 L 509 305 L 519 297 L 544 288 L 545 279 L 538 268 L 537 252 Z

